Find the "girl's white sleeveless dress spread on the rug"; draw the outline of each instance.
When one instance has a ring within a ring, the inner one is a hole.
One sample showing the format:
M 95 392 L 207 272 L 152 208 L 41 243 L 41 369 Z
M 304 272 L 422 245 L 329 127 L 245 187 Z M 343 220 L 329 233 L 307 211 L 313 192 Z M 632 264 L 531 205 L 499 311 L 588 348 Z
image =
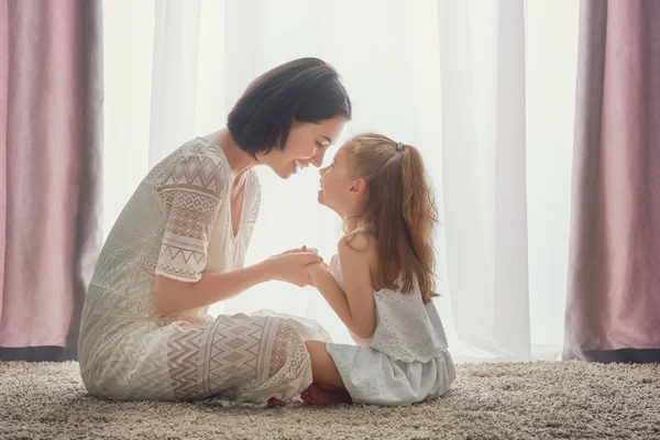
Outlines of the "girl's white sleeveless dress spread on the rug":
M 330 271 L 344 288 L 339 255 Z M 407 405 L 435 399 L 455 378 L 442 322 L 421 293 L 374 292 L 376 330 L 369 339 L 351 333 L 358 345 L 328 343 L 354 403 Z

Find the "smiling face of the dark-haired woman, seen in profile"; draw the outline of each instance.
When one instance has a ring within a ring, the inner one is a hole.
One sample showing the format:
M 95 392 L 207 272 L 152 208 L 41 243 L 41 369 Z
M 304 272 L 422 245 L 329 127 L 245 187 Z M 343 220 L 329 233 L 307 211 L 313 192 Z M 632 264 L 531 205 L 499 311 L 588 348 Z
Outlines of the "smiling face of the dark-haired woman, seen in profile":
M 289 178 L 310 164 L 317 168 L 330 145 L 337 142 L 346 120 L 334 117 L 319 123 L 294 122 L 284 150 L 273 148 L 258 161 L 268 165 L 282 178 Z

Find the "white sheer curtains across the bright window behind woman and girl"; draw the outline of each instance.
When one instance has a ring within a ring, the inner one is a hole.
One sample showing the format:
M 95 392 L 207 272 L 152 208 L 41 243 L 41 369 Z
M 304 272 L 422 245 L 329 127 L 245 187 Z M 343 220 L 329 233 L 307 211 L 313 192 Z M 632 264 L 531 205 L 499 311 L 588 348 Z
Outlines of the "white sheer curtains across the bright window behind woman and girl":
M 454 356 L 558 356 L 578 2 L 116 0 L 105 11 L 106 232 L 148 167 L 221 128 L 252 79 L 317 56 L 353 100 L 342 140 L 373 130 L 425 156 L 442 207 L 437 307 Z M 329 257 L 341 224 L 316 204 L 316 172 L 257 173 L 248 263 L 301 244 Z M 350 341 L 311 288 L 268 283 L 211 311 L 262 308 L 318 319 Z

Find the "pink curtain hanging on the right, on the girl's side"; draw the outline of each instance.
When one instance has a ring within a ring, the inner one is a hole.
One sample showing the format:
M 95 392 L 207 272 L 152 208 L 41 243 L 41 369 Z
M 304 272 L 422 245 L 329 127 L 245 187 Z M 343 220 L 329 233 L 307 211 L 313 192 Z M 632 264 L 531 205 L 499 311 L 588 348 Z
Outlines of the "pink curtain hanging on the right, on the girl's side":
M 660 1 L 580 25 L 564 359 L 660 362 Z

